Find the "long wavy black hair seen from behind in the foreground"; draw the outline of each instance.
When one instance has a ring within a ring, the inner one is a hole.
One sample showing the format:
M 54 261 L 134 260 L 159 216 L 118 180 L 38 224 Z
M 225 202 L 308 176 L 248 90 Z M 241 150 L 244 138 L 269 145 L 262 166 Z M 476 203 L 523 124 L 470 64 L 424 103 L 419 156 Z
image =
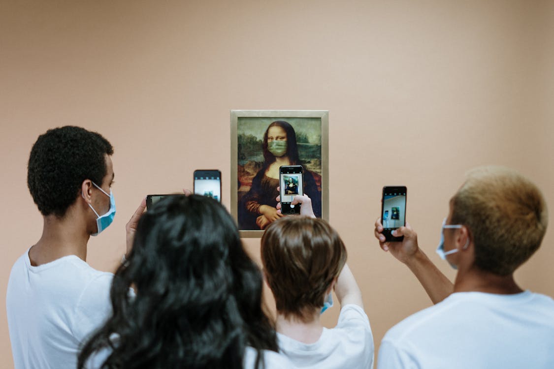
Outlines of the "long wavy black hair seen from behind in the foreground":
M 278 346 L 262 283 L 222 205 L 168 196 L 141 217 L 129 261 L 115 273 L 112 315 L 83 346 L 78 368 L 107 351 L 101 368 L 242 369 L 247 346 L 263 366 L 261 350 Z

